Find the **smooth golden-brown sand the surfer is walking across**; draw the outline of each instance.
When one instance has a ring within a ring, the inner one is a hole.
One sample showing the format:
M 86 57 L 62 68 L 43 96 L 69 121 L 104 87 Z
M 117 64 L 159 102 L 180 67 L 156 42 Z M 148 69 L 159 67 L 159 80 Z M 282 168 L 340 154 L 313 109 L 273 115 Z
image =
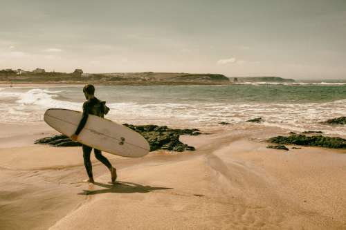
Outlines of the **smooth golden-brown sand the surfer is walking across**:
M 195 152 L 130 159 L 110 184 L 80 147 L 33 140 L 48 126 L 0 124 L 0 229 L 346 229 L 346 154 L 325 148 L 266 148 L 278 128 L 215 128 L 183 136 Z

